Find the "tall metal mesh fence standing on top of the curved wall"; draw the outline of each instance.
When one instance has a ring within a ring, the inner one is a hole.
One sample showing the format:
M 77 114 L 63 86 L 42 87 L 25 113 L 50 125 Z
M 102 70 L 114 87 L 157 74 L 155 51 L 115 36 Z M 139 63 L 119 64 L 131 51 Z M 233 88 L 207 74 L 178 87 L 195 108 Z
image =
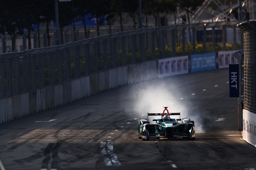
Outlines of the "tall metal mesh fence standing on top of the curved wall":
M 143 28 L 0 54 L 0 98 L 146 60 L 242 49 L 243 32 L 236 24 Z

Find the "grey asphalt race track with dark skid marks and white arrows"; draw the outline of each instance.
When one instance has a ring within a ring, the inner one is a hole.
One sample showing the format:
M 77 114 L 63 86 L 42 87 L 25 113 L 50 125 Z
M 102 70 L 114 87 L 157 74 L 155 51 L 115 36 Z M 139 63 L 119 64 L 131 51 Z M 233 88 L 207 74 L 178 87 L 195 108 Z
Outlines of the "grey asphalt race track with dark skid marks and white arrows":
M 228 80 L 228 69 L 160 78 L 2 124 L 0 159 L 6 170 L 254 170 Z M 163 106 L 194 120 L 194 141 L 138 138 L 138 119 Z

